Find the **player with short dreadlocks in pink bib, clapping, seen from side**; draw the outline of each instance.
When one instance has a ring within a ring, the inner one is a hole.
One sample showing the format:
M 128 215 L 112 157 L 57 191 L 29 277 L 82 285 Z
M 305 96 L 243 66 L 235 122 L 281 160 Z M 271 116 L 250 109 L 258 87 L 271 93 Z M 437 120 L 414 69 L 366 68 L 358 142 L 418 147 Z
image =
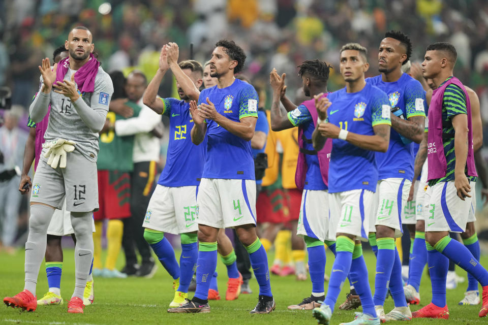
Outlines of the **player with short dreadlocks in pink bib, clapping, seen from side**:
M 317 110 L 313 96 L 327 96 L 327 81 L 330 66 L 320 60 L 307 60 L 298 66 L 298 75 L 303 82 L 303 91 L 311 99 L 293 105 L 285 96 L 285 74 L 281 77 L 276 69 L 269 75 L 273 88 L 271 104 L 271 128 L 273 131 L 298 126 L 298 145 L 300 152 L 295 174 L 297 188 L 303 189 L 298 219 L 297 235 L 303 237 L 309 253 L 310 278 L 312 295 L 288 309 L 311 310 L 319 307 L 324 294 L 325 248 L 335 249 L 335 226 L 329 224 L 328 218 L 328 169 L 331 139 L 322 150 L 316 151 L 312 146 L 312 133 L 317 124 Z M 280 106 L 280 101 L 285 108 Z M 330 231 L 329 231 L 330 229 Z

